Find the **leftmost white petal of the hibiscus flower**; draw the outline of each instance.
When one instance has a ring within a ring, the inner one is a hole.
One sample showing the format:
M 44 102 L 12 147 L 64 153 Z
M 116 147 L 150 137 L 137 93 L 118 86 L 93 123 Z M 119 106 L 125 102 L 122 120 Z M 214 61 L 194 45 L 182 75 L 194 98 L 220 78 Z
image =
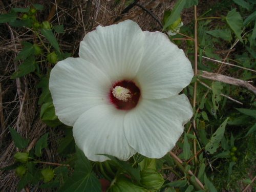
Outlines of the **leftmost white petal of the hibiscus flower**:
M 49 89 L 56 115 L 70 126 L 92 106 L 108 103 L 111 87 L 104 73 L 81 58 L 58 62 L 50 74 Z

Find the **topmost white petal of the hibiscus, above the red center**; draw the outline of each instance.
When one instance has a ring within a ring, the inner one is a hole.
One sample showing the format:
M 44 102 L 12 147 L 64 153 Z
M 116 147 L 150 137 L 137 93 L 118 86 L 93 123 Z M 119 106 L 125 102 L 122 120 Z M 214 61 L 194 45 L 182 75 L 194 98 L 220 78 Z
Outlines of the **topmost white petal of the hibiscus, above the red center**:
M 143 42 L 140 27 L 125 20 L 88 33 L 80 43 L 79 56 L 108 74 L 112 82 L 131 80 L 141 62 Z

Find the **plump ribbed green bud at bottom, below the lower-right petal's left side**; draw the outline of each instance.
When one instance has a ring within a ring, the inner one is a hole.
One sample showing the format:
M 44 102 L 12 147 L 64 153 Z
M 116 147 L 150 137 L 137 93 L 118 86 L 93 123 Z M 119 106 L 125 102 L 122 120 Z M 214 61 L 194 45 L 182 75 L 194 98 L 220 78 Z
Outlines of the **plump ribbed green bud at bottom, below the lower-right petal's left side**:
M 141 184 L 148 189 L 160 189 L 164 183 L 162 175 L 151 168 L 143 169 L 140 176 Z

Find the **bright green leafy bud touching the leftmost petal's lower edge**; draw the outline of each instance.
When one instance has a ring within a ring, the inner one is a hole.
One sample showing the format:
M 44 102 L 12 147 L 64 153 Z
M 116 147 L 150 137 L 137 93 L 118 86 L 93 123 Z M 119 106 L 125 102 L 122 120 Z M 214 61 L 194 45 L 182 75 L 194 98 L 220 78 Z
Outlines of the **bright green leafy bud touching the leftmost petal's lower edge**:
M 42 104 L 40 111 L 40 118 L 43 122 L 51 127 L 56 127 L 62 124 L 55 114 L 55 108 L 53 102 L 47 102 Z

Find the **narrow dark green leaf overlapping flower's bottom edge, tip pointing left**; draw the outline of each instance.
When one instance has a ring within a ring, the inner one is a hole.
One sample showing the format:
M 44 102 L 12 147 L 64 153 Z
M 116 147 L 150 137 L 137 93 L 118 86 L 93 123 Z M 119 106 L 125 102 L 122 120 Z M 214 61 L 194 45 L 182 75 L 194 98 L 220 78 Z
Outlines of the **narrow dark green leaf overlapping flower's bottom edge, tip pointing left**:
M 120 168 L 126 170 L 127 173 L 131 175 L 133 179 L 135 179 L 137 182 L 140 181 L 140 166 L 137 168 L 132 167 L 130 164 L 128 164 L 125 161 L 120 161 L 119 159 L 111 156 L 111 155 L 105 155 L 105 154 L 99 154 L 104 155 L 108 158 L 110 158 L 112 161 L 114 161 Z

